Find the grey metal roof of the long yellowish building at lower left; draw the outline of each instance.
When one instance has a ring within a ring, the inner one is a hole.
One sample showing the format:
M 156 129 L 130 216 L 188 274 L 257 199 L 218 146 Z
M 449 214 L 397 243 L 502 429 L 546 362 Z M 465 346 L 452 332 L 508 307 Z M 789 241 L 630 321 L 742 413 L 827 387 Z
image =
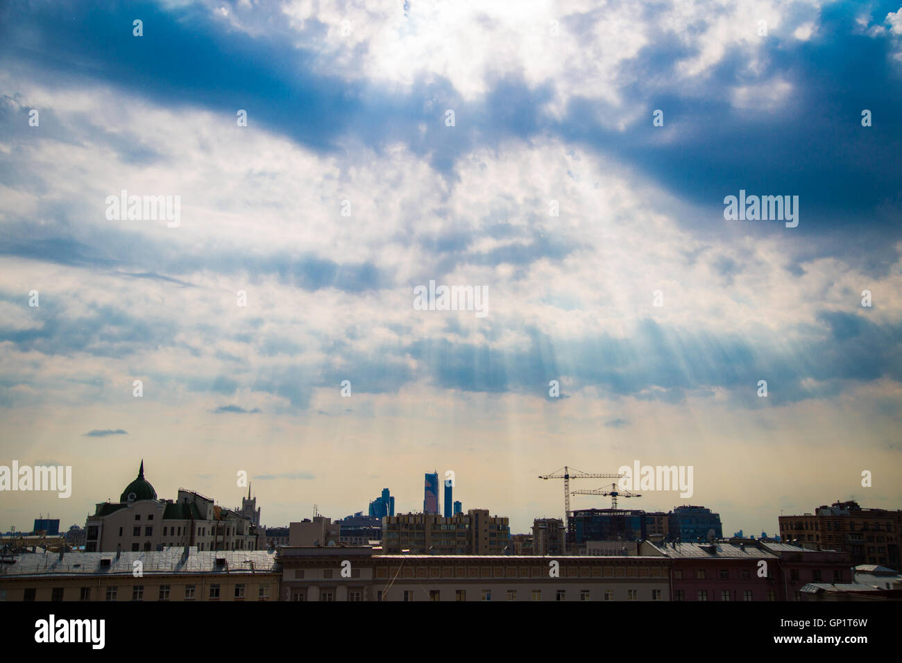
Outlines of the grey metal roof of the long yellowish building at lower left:
M 204 550 L 189 548 L 163 548 L 161 551 L 123 552 L 69 552 L 60 559 L 59 554 L 24 554 L 15 557 L 14 563 L 0 563 L 0 577 L 4 576 L 81 576 L 81 575 L 132 575 L 133 562 L 143 563 L 143 574 L 155 573 L 264 573 L 278 570 L 275 553 L 266 550 Z M 217 566 L 217 559 L 226 559 L 226 566 Z M 101 560 L 109 560 L 102 565 Z M 252 570 L 253 566 L 253 570 Z

